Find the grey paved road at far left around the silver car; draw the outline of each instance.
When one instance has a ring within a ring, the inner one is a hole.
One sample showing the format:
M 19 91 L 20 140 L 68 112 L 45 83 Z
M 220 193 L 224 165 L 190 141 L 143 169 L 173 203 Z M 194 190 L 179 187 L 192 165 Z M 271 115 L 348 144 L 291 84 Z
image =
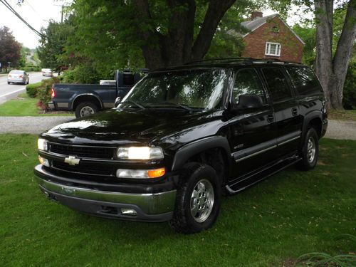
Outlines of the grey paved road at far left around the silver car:
M 29 73 L 30 83 L 38 83 L 48 77 L 42 77 L 42 73 Z M 23 93 L 26 90 L 26 85 L 19 84 L 7 84 L 7 75 L 0 76 L 0 104 L 6 102 L 11 98 L 16 98 L 19 93 Z

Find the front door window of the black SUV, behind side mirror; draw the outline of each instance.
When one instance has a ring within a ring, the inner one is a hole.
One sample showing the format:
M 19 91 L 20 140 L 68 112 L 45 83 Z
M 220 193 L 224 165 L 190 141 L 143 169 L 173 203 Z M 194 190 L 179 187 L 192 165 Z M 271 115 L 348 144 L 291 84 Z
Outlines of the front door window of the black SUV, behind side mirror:
M 234 84 L 234 100 L 239 103 L 240 95 L 258 95 L 266 104 L 266 96 L 263 92 L 263 87 L 260 78 L 258 78 L 256 70 L 247 68 L 239 70 L 236 74 Z

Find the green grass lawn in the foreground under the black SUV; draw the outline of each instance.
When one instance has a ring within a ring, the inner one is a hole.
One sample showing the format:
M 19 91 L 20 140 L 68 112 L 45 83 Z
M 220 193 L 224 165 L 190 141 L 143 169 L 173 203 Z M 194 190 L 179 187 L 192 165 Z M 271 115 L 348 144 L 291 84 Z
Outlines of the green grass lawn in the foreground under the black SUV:
M 0 135 L 0 266 L 290 266 L 355 253 L 356 142 L 323 139 L 310 172 L 294 167 L 225 197 L 195 235 L 168 224 L 95 218 L 48 201 L 33 181 L 36 136 Z

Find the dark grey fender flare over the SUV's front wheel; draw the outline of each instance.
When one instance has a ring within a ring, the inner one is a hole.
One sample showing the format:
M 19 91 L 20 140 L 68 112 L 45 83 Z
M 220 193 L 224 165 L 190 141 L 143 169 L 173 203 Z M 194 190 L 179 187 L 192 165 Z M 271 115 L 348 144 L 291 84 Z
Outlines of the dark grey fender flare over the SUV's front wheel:
M 226 139 L 226 137 L 223 136 L 211 136 L 191 142 L 179 148 L 176 155 L 174 155 L 172 171 L 183 167 L 184 163 L 187 162 L 189 157 L 197 155 L 198 153 L 203 152 L 204 150 L 209 150 L 211 148 L 216 147 L 220 147 L 224 150 L 224 152 L 226 153 L 226 158 L 229 159 L 228 164 L 230 166 L 231 152 L 228 140 Z

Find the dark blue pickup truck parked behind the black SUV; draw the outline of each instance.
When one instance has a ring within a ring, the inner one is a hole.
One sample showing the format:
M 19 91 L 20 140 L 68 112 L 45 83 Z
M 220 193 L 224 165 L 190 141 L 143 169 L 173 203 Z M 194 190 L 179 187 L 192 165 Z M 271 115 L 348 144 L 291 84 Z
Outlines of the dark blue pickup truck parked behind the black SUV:
M 70 110 L 75 117 L 85 117 L 113 108 L 117 97 L 123 98 L 138 80 L 140 73 L 115 73 L 115 85 L 57 83 L 51 90 L 51 110 Z

